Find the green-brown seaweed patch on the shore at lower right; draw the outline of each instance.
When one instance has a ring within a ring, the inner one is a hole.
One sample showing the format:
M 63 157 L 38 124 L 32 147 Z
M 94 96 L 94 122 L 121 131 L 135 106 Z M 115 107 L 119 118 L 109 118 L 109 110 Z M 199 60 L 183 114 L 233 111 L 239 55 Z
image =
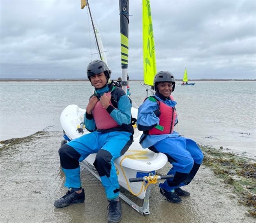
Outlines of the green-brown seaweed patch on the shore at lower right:
M 203 164 L 223 179 L 238 195 L 239 203 L 250 209 L 249 214 L 256 217 L 256 163 L 254 160 L 237 156 L 232 152 L 200 145 L 204 153 Z

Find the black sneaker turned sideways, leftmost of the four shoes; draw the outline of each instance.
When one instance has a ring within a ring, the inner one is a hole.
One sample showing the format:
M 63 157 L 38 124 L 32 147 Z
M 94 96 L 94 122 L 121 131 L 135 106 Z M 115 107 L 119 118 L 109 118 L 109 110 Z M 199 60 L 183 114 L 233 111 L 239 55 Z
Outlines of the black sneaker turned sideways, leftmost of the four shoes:
M 84 202 L 84 188 L 82 193 L 77 194 L 74 190 L 68 190 L 67 194 L 57 199 L 54 202 L 54 206 L 57 208 L 67 207 L 70 204 L 79 204 Z

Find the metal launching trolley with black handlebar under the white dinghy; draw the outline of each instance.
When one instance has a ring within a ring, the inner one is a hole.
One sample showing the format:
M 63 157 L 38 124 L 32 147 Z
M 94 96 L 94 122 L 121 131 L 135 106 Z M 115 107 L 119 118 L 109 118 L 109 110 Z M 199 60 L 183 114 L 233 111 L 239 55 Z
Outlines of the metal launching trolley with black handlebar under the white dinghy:
M 82 164 L 90 173 L 92 173 L 92 175 L 94 175 L 98 180 L 100 180 L 100 176 L 99 176 L 98 172 L 94 169 L 94 167 L 91 164 L 89 164 L 86 160 L 82 161 L 80 164 Z M 152 173 L 151 176 L 153 176 L 153 173 Z M 162 175 L 162 176 L 157 177 L 157 179 L 159 179 L 159 180 L 167 179 L 167 178 L 173 178 L 173 175 Z M 147 179 L 145 177 L 130 178 L 129 181 L 130 182 L 144 181 L 143 182 L 144 186 L 146 186 L 146 184 L 147 184 L 146 183 Z M 150 195 L 151 187 L 152 187 L 152 184 L 149 184 L 147 189 L 146 189 L 146 193 L 145 193 L 145 197 L 143 199 L 143 206 L 142 207 L 135 204 L 133 201 L 131 201 L 127 196 L 125 196 L 121 192 L 119 192 L 119 197 L 121 199 L 123 199 L 123 201 L 125 201 L 127 204 L 129 204 L 134 210 L 138 211 L 140 214 L 148 215 L 148 214 L 150 214 L 150 211 L 149 211 L 149 195 Z

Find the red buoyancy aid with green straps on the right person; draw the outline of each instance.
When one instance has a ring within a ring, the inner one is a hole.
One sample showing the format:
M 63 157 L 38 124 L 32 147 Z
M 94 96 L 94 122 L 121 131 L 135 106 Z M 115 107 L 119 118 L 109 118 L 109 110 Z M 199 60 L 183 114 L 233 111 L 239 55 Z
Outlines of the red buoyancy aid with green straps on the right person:
M 173 100 L 173 97 L 171 97 Z M 155 100 L 159 105 L 160 116 L 158 117 L 159 125 L 153 127 L 148 131 L 148 135 L 162 135 L 162 134 L 172 134 L 174 123 L 177 117 L 177 112 L 175 107 L 170 107 L 164 102 L 157 100 L 155 97 L 152 97 L 149 100 Z

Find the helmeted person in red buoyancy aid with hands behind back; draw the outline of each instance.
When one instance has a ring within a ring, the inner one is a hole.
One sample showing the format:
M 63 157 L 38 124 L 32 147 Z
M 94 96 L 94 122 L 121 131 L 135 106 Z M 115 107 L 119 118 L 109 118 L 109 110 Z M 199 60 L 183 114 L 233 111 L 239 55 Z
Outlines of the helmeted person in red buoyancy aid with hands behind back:
M 173 174 L 174 177 L 159 184 L 160 193 L 172 203 L 181 203 L 180 196 L 190 195 L 181 187 L 192 181 L 204 155 L 196 142 L 173 131 L 178 117 L 175 109 L 177 103 L 171 97 L 175 89 L 172 73 L 156 73 L 154 89 L 156 93 L 139 107 L 137 126 L 143 131 L 140 144 L 142 148 L 162 152 L 167 156 L 172 164 L 172 169 L 167 174 Z

